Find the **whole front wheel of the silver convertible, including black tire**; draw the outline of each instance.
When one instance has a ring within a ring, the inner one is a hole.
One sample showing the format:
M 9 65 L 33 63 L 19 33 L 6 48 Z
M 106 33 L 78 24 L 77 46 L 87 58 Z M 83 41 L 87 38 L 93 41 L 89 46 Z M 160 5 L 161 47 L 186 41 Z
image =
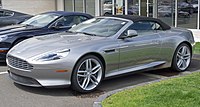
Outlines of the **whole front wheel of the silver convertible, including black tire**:
M 103 75 L 101 60 L 93 55 L 85 56 L 77 62 L 72 72 L 72 89 L 81 93 L 91 92 L 99 86 Z

